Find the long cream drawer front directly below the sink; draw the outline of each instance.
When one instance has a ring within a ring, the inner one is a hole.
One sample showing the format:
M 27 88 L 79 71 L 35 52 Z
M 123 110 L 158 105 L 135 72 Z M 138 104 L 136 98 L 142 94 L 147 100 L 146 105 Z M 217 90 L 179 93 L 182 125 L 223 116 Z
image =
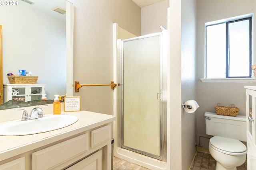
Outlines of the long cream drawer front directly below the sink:
M 32 153 L 32 170 L 49 169 L 87 150 L 88 133 Z

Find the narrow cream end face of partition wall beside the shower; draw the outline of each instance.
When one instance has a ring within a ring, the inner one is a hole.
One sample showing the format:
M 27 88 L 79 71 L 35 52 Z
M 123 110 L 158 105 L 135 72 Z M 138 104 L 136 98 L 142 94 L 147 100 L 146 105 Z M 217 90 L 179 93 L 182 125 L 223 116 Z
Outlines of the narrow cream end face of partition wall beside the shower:
M 168 90 L 168 161 L 171 170 L 182 169 L 182 114 L 181 114 L 181 1 L 170 0 L 168 30 L 170 30 L 170 58 Z M 172 25 L 172 26 L 171 26 Z

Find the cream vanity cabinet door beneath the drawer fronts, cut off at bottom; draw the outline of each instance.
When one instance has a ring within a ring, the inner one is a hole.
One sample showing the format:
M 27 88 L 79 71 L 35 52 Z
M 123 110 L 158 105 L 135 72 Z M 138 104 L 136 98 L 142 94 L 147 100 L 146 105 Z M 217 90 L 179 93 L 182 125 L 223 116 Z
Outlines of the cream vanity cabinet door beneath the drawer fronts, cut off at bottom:
M 102 170 L 102 150 L 84 158 L 66 170 Z

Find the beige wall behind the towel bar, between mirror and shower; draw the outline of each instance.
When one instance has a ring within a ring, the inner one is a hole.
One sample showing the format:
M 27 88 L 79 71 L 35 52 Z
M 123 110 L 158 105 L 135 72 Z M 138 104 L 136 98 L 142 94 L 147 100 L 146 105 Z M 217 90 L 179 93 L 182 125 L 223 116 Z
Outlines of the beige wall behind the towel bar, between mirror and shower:
M 140 35 L 140 8 L 130 0 L 70 0 L 74 4 L 74 81 L 113 80 L 113 23 Z M 113 114 L 110 86 L 82 87 L 81 109 Z

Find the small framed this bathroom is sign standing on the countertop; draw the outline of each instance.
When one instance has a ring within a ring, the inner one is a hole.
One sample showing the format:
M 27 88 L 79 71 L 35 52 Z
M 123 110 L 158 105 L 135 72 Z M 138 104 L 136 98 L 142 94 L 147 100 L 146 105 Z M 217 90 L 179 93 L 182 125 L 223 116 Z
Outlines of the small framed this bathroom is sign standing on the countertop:
M 65 97 L 64 111 L 80 111 L 80 96 L 79 97 Z

